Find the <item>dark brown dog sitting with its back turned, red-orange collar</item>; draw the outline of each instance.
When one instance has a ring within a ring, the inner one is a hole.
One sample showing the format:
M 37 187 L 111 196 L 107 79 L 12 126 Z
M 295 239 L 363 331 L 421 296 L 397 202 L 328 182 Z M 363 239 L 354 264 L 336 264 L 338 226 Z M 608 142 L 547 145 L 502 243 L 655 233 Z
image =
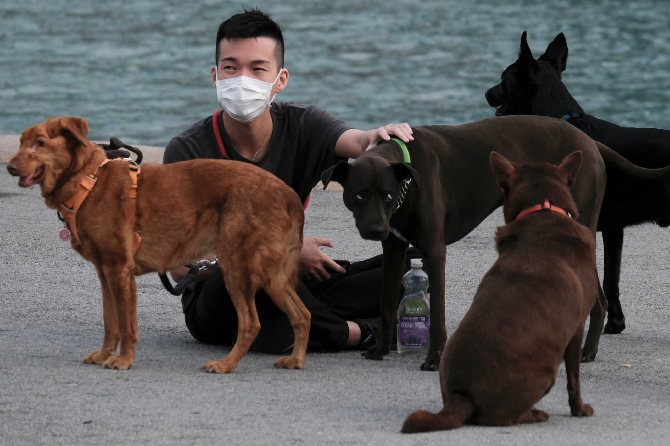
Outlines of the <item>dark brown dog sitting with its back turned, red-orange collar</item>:
M 558 166 L 515 165 L 490 154 L 505 195 L 498 260 L 442 353 L 444 408 L 411 414 L 403 433 L 547 421 L 535 403 L 553 386 L 561 359 L 570 412 L 593 415 L 582 402 L 580 357 L 584 322 L 598 295 L 596 241 L 574 220 L 569 190 L 581 162 L 579 151 Z

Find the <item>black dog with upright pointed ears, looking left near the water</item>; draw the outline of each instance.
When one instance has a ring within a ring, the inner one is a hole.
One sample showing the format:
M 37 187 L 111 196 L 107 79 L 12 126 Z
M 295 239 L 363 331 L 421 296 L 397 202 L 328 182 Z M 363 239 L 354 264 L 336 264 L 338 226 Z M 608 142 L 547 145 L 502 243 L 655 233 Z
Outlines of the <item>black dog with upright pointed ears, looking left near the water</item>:
M 519 59 L 502 72 L 502 82 L 486 92 L 488 104 L 497 108 L 496 116 L 543 115 L 564 119 L 631 163 L 648 168 L 670 164 L 670 131 L 619 127 L 586 115 L 561 82 L 566 60 L 567 43 L 563 33 L 535 60 L 523 31 Z M 663 228 L 669 226 L 669 195 L 670 181 L 632 179 L 607 169 L 607 185 L 598 219 L 605 257 L 602 288 L 608 299 L 605 333 L 620 333 L 626 327 L 619 301 L 624 227 L 645 222 L 654 222 Z

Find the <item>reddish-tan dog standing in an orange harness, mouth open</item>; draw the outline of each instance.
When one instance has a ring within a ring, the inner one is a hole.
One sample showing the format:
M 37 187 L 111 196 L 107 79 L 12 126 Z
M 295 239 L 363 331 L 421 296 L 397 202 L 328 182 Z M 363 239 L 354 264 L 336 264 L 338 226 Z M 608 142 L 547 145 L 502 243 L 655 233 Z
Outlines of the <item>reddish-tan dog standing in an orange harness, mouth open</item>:
M 295 331 L 291 356 L 275 366 L 301 368 L 310 313 L 295 294 L 304 223 L 297 194 L 259 167 L 197 159 L 143 165 L 133 199 L 129 163 L 101 165 L 105 151 L 88 141 L 87 133 L 83 119 L 50 118 L 23 131 L 19 151 L 7 165 L 9 173 L 20 176 L 21 187 L 39 184 L 53 209 L 60 209 L 97 169 L 94 187 L 76 213 L 72 237 L 72 247 L 95 265 L 103 292 L 105 339 L 84 362 L 130 368 L 139 340 L 135 275 L 164 273 L 215 250 L 239 330 L 230 354 L 203 368 L 235 370 L 261 327 L 254 301 L 259 287 L 287 313 Z M 134 233 L 141 237 L 137 252 Z

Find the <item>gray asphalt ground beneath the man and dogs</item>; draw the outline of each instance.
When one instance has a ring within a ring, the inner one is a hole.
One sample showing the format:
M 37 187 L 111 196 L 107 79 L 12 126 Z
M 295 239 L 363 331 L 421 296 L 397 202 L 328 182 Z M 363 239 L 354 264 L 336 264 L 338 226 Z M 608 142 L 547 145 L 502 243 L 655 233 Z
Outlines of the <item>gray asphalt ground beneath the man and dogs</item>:
M 604 335 L 582 368 L 590 419 L 569 416 L 565 372 L 539 404 L 547 423 L 463 427 L 406 436 L 405 417 L 442 408 L 422 358 L 308 353 L 303 370 L 249 353 L 234 374 L 200 366 L 228 348 L 193 340 L 179 299 L 155 274 L 137 279 L 140 342 L 129 371 L 81 363 L 103 338 L 92 265 L 61 242 L 38 188 L 21 190 L 0 164 L 0 445 L 667 445 L 670 443 L 670 248 L 667 230 L 626 230 L 621 280 L 626 331 Z M 306 236 L 331 238 L 334 258 L 381 252 L 360 239 L 335 192 L 315 192 Z M 496 258 L 495 212 L 448 248 L 446 321 L 452 333 Z M 600 258 L 602 259 L 602 243 Z M 602 260 L 600 261 L 602 265 Z M 602 273 L 602 269 L 601 269 Z M 630 367 L 622 367 L 630 364 Z

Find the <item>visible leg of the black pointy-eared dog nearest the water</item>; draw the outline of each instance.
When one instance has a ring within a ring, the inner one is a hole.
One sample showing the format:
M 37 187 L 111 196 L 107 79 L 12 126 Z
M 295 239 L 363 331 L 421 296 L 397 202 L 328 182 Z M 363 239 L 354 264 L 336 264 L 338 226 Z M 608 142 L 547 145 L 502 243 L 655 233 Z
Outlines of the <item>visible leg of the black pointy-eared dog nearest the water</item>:
M 623 244 L 623 228 L 602 231 L 602 245 L 604 247 L 602 289 L 608 302 L 605 333 L 621 333 L 626 329 L 626 317 L 619 301 L 619 278 L 621 275 L 621 250 Z

